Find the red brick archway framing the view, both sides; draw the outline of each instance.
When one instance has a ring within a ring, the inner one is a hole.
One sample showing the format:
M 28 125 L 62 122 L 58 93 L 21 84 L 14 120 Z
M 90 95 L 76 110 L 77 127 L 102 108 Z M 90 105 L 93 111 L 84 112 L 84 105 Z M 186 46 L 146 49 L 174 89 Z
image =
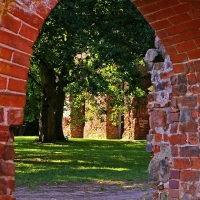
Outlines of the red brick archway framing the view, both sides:
M 4 2 L 0 3 L 0 200 L 9 200 L 15 199 L 10 127 L 23 121 L 32 46 L 45 18 L 58 1 L 13 0 L 8 5 L 8 1 L 0 2 Z M 132 3 L 155 30 L 173 63 L 173 72 L 167 77 L 172 87 L 170 103 L 167 108 L 159 108 L 166 131 L 156 133 L 155 123 L 151 124 L 150 131 L 155 152 L 164 144 L 170 145 L 172 163 L 166 189 L 175 199 L 184 195 L 185 198 L 199 198 L 200 1 L 132 0 Z M 154 100 L 149 98 L 150 104 Z M 156 110 L 158 107 L 151 107 L 150 113 Z M 150 114 L 152 122 L 153 113 Z

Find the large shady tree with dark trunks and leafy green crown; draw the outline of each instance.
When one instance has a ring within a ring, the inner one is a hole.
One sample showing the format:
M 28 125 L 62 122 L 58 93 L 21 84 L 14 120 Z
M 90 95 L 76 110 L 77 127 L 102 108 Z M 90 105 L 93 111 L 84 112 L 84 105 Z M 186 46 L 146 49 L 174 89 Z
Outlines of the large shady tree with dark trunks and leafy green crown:
M 117 85 L 125 80 L 133 92 L 140 80 L 134 61 L 153 46 L 153 37 L 129 0 L 61 0 L 45 21 L 32 57 L 41 77 L 40 141 L 64 139 L 66 92 L 106 94 L 109 81 Z M 116 69 L 112 80 L 102 74 L 111 66 Z

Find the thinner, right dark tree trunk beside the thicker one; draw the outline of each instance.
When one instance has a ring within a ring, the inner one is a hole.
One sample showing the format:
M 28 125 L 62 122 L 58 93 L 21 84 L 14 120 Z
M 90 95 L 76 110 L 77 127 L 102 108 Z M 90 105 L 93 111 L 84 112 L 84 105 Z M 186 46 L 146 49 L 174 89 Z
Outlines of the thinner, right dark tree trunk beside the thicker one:
M 63 118 L 63 108 L 65 102 L 65 92 L 63 91 L 64 84 L 58 84 L 57 93 L 56 93 L 56 112 L 55 112 L 55 139 L 66 141 L 63 128 L 62 128 L 62 118 Z

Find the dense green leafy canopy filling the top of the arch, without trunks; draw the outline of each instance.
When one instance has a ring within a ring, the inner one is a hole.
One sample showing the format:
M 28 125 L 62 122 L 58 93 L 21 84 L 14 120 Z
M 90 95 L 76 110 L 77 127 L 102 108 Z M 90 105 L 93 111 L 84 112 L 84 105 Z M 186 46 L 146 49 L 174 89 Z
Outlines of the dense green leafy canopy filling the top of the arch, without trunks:
M 141 94 L 137 88 L 143 77 L 135 63 L 153 41 L 153 30 L 129 0 L 61 0 L 43 25 L 32 62 L 53 69 L 56 88 L 62 84 L 77 98 L 74 115 L 89 93 L 108 95 L 112 116 L 123 112 L 125 97 L 131 102 Z

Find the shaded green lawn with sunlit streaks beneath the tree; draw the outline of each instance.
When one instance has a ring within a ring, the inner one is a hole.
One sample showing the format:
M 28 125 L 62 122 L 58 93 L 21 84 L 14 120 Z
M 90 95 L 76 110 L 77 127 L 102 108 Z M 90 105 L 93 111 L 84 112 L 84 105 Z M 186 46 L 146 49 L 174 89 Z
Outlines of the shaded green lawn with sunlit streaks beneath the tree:
M 150 161 L 145 141 L 69 139 L 38 144 L 15 137 L 16 185 L 66 182 L 146 182 Z

